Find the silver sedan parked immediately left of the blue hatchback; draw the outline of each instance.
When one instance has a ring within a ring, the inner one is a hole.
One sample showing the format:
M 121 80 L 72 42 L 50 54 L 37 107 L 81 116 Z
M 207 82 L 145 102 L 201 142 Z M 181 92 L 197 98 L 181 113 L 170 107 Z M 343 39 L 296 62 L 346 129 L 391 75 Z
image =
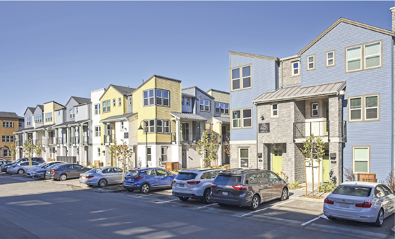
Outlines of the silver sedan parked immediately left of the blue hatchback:
M 122 169 L 116 167 L 99 167 L 79 174 L 79 183 L 101 188 L 108 184 L 120 184 L 123 181 Z

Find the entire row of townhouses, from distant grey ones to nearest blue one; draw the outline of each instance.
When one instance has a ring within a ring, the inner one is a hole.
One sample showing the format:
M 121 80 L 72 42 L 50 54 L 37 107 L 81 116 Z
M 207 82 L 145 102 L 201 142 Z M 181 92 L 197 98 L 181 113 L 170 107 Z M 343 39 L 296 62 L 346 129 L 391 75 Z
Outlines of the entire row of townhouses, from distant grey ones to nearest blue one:
M 196 142 L 208 131 L 221 139 L 213 165 L 305 182 L 312 178 L 300 148 L 314 134 L 325 144 L 314 168 L 321 181 L 344 181 L 346 168 L 385 181 L 395 150 L 391 11 L 392 31 L 340 18 L 282 59 L 230 51 L 230 93 L 182 89 L 180 80 L 154 75 L 136 89 L 110 85 L 90 99 L 28 107 L 17 145 L 30 137 L 46 159 L 107 166 L 117 164 L 110 145 L 123 139 L 135 152 L 131 166 L 195 168 L 202 166 Z

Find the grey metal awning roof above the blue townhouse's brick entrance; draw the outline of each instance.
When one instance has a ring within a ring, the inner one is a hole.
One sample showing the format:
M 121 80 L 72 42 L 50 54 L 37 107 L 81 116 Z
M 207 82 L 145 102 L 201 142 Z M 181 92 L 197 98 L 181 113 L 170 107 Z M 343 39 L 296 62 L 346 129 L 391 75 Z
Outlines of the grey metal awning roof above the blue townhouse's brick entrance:
M 265 92 L 258 96 L 252 103 L 278 102 L 295 99 L 305 99 L 318 96 L 338 95 L 346 87 L 346 81 L 312 86 L 290 86 Z

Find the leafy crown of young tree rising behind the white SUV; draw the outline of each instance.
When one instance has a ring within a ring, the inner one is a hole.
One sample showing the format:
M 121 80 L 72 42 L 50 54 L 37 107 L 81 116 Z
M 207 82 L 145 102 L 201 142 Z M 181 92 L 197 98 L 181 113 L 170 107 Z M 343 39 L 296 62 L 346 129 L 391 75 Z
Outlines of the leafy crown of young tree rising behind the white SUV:
M 218 137 L 214 133 L 207 134 L 203 131 L 201 139 L 197 141 L 196 150 L 200 157 L 203 157 L 204 167 L 208 167 L 210 162 L 218 158 Z

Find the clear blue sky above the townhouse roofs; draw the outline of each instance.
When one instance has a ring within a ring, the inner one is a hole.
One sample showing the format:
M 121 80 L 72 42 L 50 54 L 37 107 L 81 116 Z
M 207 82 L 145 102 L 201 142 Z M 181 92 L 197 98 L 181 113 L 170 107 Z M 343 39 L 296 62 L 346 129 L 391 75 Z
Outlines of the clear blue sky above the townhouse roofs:
M 0 111 L 154 74 L 229 91 L 228 51 L 296 55 L 340 17 L 391 30 L 394 1 L 0 1 Z

